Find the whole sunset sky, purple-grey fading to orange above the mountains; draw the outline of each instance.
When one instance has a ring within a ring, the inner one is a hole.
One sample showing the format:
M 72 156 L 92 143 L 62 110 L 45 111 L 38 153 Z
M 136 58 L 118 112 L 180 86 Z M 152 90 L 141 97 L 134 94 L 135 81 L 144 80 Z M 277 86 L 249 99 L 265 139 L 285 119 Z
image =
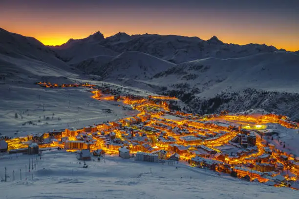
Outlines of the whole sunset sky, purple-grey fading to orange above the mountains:
M 299 50 L 299 0 L 0 0 L 0 27 L 46 45 L 100 31 Z

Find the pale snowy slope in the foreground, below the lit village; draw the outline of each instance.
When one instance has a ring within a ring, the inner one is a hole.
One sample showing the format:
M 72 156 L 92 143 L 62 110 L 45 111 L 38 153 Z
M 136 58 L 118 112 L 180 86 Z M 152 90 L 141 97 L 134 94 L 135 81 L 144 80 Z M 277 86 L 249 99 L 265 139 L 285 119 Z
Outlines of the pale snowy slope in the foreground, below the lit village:
M 3 199 L 298 199 L 298 191 L 246 182 L 229 176 L 191 168 L 106 156 L 79 164 L 75 154 L 43 152 L 42 159 L 15 155 L 0 159 L 11 177 L 0 182 Z M 28 159 L 36 169 L 28 172 Z M 27 180 L 25 179 L 27 164 Z M 179 167 L 176 169 L 176 167 Z M 20 169 L 22 180 L 20 180 Z M 15 181 L 13 178 L 15 170 Z M 0 176 L 3 176 L 0 170 Z M 16 191 L 18 190 L 18 191 Z

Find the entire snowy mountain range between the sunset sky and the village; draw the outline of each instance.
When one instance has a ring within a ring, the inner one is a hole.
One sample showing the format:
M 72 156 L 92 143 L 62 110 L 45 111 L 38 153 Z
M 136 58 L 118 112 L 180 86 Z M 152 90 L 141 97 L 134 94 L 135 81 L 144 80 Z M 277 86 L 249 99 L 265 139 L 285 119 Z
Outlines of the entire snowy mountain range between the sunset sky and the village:
M 215 36 L 118 33 L 104 38 L 97 32 L 44 46 L 0 29 L 0 67 L 1 79 L 84 76 L 176 95 L 202 114 L 265 108 L 299 118 L 299 51 L 265 44 L 227 44 Z

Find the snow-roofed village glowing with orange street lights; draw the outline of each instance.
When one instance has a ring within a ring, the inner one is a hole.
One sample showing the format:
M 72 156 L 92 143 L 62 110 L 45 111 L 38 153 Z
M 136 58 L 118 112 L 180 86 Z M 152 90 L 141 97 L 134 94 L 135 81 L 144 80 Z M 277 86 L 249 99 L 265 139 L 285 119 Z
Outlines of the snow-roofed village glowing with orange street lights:
M 299 124 L 275 114 L 251 116 L 220 114 L 199 116 L 169 109 L 174 97 L 122 96 L 91 84 L 51 84 L 45 88 L 85 87 L 95 100 L 112 100 L 120 108 L 135 109 L 135 117 L 93 124 L 81 129 L 53 130 L 27 137 L 0 140 L 2 151 L 38 154 L 60 149 L 77 153 L 79 159 L 119 155 L 136 160 L 190 164 L 227 173 L 236 178 L 271 186 L 292 184 L 299 176 L 299 157 L 272 142 L 269 123 L 285 128 Z M 268 139 L 266 139 L 268 138 Z M 6 147 L 5 147 L 6 146 Z M 99 158 L 100 159 L 100 158 Z

